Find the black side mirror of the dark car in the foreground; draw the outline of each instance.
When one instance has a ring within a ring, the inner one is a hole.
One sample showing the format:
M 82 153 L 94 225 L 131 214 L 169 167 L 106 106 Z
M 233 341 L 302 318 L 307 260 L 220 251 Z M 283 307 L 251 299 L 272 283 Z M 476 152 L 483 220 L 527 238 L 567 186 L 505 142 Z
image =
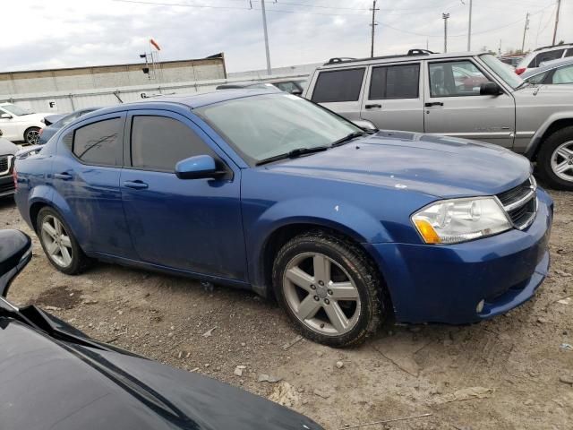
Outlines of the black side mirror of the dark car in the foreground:
M 32 258 L 30 236 L 20 230 L 0 230 L 0 297 Z

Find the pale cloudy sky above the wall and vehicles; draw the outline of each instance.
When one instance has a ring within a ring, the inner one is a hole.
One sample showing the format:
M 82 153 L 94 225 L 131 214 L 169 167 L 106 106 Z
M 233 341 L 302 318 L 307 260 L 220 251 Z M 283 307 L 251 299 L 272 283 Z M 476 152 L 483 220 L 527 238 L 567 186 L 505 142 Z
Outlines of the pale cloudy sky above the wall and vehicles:
M 466 51 L 470 0 L 379 0 L 374 54 L 412 47 Z M 162 60 L 224 52 L 228 72 L 266 66 L 261 0 L 0 0 L 0 72 L 140 62 L 149 39 Z M 252 8 L 251 8 L 252 4 Z M 372 0 L 266 0 L 273 67 L 370 55 Z M 551 45 L 556 0 L 473 0 L 472 50 Z M 557 40 L 573 42 L 573 0 Z

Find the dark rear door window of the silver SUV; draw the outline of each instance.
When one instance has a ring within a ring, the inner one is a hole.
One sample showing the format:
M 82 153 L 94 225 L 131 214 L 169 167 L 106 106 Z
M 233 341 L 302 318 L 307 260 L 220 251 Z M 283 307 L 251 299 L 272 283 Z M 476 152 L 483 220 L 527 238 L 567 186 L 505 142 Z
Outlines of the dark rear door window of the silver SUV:
M 369 99 L 417 99 L 420 64 L 372 68 Z

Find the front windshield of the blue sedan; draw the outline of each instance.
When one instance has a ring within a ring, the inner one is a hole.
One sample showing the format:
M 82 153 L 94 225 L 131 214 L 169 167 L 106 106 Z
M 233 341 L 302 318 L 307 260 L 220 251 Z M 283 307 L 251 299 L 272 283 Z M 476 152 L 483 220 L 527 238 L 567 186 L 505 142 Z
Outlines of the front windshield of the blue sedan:
M 291 94 L 265 94 L 193 109 L 249 163 L 297 149 L 329 146 L 363 130 Z

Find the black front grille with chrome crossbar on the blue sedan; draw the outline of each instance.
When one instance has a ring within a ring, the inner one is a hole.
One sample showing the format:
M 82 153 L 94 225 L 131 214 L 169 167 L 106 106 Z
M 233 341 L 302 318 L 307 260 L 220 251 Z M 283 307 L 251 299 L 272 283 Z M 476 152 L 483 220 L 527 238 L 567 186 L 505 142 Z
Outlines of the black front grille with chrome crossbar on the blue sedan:
M 516 228 L 524 229 L 531 225 L 537 213 L 537 183 L 529 176 L 523 184 L 497 195 L 503 209 Z

